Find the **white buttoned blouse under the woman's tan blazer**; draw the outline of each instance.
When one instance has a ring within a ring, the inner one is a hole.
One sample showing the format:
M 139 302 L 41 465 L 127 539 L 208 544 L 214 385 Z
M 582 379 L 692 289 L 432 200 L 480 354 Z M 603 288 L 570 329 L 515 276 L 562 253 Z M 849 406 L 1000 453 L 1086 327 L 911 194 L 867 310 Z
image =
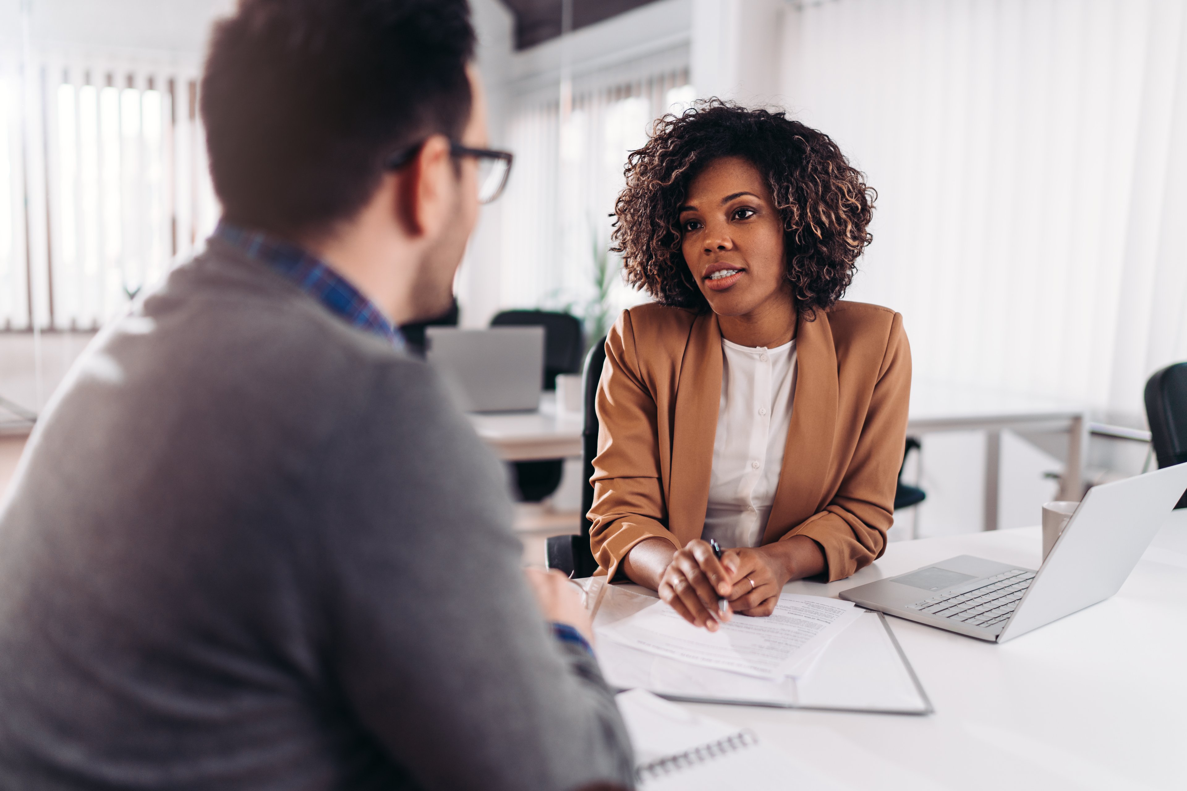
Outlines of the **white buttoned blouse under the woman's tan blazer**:
M 751 349 L 722 338 L 722 401 L 702 537 L 722 547 L 757 547 L 792 422 L 795 342 Z

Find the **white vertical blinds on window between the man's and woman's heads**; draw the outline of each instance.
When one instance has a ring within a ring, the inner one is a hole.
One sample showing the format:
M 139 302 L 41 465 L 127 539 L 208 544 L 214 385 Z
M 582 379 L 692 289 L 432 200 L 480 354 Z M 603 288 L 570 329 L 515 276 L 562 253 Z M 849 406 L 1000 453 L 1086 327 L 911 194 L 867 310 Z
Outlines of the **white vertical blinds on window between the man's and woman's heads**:
M 597 314 L 646 299 L 622 283 L 617 261 L 607 255 L 610 215 L 627 154 L 647 142 L 658 116 L 687 107 L 687 50 L 680 47 L 578 76 L 567 120 L 557 82 L 514 91 L 507 142 L 515 166 L 501 208 L 501 307 L 567 310 L 597 333 L 604 330 L 595 326 Z

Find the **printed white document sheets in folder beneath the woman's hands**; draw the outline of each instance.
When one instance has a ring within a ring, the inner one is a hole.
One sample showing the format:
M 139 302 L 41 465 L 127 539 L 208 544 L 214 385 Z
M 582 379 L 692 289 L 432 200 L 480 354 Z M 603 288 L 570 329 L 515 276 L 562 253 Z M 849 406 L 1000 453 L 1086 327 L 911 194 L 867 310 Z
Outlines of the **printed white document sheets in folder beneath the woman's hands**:
M 832 637 L 859 617 L 852 602 L 783 594 L 766 618 L 735 614 L 716 632 L 693 626 L 662 601 L 597 629 L 598 637 L 669 659 L 760 678 L 811 666 Z

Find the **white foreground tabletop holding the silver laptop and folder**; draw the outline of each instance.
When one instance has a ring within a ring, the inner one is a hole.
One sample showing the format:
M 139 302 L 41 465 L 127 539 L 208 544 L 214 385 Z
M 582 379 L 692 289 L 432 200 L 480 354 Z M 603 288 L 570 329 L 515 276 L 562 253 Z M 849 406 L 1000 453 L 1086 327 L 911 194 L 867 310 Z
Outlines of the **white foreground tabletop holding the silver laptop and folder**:
M 785 589 L 834 597 L 960 554 L 1037 568 L 1041 534 L 893 543 L 848 580 Z M 935 714 L 681 706 L 750 728 L 855 790 L 1187 789 L 1187 510 L 1117 595 L 1009 643 L 888 621 Z

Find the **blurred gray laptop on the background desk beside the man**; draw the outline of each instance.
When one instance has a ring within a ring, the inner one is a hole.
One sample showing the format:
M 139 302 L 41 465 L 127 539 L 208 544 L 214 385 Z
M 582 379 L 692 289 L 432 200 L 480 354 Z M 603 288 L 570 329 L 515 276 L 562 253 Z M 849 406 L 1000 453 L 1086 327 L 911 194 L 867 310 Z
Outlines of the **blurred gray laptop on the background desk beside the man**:
M 534 412 L 544 382 L 544 327 L 425 327 L 425 357 L 464 412 Z

